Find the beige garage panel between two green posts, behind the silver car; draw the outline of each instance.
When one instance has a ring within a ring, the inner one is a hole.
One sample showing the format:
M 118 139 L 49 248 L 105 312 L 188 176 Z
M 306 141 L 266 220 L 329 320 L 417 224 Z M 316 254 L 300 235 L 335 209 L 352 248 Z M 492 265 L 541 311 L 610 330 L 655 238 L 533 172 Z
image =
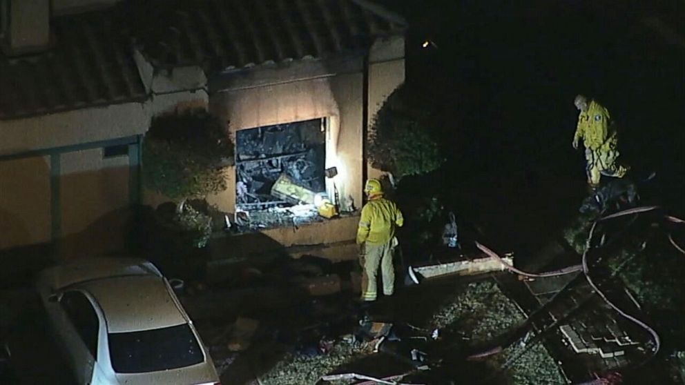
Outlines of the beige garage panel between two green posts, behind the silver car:
M 128 221 L 128 156 L 103 159 L 103 149 L 67 152 L 61 161 L 62 257 L 121 250 Z

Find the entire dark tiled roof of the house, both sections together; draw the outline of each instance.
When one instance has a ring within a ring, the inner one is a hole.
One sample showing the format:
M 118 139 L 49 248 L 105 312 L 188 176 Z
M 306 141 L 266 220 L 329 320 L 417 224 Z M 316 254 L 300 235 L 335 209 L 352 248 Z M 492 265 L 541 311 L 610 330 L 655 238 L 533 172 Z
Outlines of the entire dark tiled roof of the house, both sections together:
M 145 99 L 134 40 L 157 67 L 225 70 L 363 50 L 405 24 L 356 0 L 129 0 L 50 28 L 46 52 L 0 54 L 0 119 Z

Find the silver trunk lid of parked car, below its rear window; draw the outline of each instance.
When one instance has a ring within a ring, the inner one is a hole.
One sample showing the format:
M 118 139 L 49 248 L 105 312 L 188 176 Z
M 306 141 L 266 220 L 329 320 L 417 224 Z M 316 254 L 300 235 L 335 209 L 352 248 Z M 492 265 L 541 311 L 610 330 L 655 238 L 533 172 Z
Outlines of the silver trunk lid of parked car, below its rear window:
M 207 362 L 151 373 L 117 373 L 117 384 L 120 385 L 148 385 L 148 384 L 214 384 L 219 382 L 214 366 Z

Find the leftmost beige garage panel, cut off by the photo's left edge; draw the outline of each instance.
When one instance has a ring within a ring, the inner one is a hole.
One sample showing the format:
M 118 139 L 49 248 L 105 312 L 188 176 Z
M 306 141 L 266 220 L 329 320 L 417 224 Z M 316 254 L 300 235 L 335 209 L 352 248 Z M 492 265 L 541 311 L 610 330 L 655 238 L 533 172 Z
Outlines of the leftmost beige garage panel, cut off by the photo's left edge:
M 0 248 L 50 241 L 50 159 L 0 161 Z

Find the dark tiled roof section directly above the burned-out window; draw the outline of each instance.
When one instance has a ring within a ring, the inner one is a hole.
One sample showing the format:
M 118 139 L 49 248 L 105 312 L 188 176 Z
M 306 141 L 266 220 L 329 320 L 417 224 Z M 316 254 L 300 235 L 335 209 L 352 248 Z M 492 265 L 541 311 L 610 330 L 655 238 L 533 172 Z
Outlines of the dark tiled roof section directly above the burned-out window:
M 397 19 L 353 0 L 196 0 L 141 3 L 133 19 L 144 55 L 158 67 L 213 70 L 321 58 L 401 33 Z

